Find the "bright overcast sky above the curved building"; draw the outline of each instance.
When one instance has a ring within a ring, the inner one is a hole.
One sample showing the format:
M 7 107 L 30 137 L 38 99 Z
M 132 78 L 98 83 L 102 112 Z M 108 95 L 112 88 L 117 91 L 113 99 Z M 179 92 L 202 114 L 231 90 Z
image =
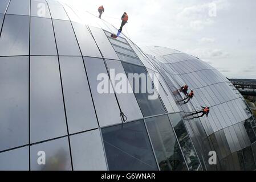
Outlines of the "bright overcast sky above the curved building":
M 230 78 L 256 79 L 255 0 L 62 0 L 120 27 L 138 46 L 162 46 L 192 54 Z M 215 11 L 216 7 L 216 11 Z

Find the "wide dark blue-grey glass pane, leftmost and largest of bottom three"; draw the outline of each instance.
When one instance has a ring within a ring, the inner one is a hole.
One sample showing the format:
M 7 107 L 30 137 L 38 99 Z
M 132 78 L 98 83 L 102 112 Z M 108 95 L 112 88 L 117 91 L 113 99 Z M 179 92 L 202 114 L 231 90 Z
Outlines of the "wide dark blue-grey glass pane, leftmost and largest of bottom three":
M 109 170 L 157 170 L 143 120 L 102 129 Z

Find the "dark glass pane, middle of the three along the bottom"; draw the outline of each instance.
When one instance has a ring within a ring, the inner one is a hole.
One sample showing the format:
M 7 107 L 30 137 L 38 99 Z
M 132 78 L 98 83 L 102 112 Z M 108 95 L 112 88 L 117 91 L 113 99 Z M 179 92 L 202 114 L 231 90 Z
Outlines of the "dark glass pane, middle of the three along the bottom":
M 146 124 L 160 169 L 187 170 L 168 116 L 148 118 Z

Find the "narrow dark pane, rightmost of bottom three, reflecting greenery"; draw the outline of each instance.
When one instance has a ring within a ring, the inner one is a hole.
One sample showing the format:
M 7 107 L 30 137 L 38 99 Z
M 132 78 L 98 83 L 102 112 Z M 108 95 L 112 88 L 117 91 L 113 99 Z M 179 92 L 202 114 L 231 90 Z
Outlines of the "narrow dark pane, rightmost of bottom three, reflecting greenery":
M 196 151 L 194 150 L 192 141 L 189 138 L 188 131 L 179 113 L 169 114 L 170 121 L 177 135 L 178 142 L 180 142 L 181 150 L 185 156 L 186 163 L 190 170 L 196 170 L 200 165 L 199 159 L 197 158 Z

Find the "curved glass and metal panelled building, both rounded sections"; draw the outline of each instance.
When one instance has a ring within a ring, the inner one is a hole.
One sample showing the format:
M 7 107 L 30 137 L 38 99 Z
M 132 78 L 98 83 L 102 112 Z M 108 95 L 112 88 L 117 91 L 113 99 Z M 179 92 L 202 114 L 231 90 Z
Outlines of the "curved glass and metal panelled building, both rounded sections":
M 0 0 L 0 27 L 0 170 L 256 169 L 251 110 L 197 57 L 113 39 L 108 22 L 53 0 Z M 130 80 L 133 93 L 97 92 L 111 69 L 158 75 L 159 97 Z M 180 105 L 184 84 L 195 96 Z M 188 116 L 200 106 L 209 117 Z

